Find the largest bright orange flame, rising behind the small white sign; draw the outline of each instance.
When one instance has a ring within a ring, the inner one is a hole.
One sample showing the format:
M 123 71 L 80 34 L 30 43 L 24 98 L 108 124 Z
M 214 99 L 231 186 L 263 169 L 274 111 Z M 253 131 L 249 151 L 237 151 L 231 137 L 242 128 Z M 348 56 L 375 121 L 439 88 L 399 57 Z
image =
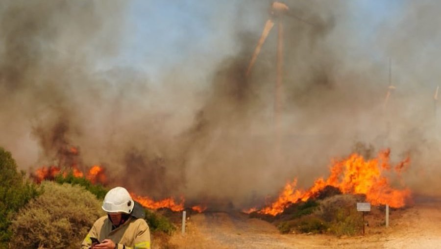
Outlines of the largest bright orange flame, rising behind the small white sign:
M 410 198 L 411 191 L 408 188 L 403 190 L 393 189 L 388 178 L 382 176 L 384 171 L 390 171 L 389 164 L 390 149 L 380 151 L 374 159 L 365 161 L 363 156 L 353 153 L 341 161 L 333 161 L 330 168 L 330 176 L 324 180 L 318 178 L 314 186 L 308 191 L 295 190 L 297 180 L 287 183 L 278 199 L 269 206 L 259 210 L 259 213 L 277 215 L 299 200 L 306 201 L 315 196 L 327 185 L 340 189 L 343 194 L 364 194 L 366 200 L 372 205 L 389 204 L 391 207 L 402 207 Z M 398 163 L 394 170 L 398 175 L 410 163 L 407 157 Z M 248 210 L 250 211 L 250 210 Z

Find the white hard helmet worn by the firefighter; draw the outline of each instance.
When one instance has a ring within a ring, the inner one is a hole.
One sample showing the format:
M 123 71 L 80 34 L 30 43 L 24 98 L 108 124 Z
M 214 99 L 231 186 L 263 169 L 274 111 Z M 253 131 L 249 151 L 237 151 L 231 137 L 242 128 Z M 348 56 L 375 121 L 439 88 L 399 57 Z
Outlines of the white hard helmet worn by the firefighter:
M 102 210 L 107 213 L 123 212 L 130 214 L 133 210 L 133 206 L 133 199 L 123 187 L 116 187 L 109 190 L 102 202 Z

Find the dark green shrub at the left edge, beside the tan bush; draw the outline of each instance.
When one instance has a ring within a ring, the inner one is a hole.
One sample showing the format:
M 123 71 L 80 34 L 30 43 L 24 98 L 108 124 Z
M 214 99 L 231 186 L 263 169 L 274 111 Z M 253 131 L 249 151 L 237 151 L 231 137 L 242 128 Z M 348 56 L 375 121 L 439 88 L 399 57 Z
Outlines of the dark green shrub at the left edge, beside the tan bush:
M 38 196 L 35 184 L 17 172 L 17 164 L 9 151 L 0 147 L 0 248 L 6 248 L 11 231 L 8 227 L 15 213 L 32 198 Z

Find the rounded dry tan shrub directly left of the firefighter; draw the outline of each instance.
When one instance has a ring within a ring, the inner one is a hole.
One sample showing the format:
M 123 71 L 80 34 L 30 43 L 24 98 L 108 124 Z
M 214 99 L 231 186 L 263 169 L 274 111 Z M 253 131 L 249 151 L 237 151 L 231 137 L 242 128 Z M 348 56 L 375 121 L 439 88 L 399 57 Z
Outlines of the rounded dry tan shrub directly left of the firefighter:
M 43 194 L 12 221 L 12 248 L 78 248 L 104 212 L 101 201 L 83 187 L 44 181 Z

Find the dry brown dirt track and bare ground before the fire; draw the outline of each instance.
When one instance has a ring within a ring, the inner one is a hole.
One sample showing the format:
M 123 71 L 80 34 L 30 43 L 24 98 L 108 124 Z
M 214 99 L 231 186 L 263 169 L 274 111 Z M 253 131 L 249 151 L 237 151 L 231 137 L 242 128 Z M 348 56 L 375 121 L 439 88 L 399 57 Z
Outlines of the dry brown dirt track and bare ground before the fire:
M 182 249 L 441 249 L 441 199 L 421 198 L 413 206 L 391 210 L 388 228 L 383 211 L 366 215 L 364 236 L 342 238 L 280 234 L 274 225 L 242 213 L 196 214 L 188 219 L 185 236 L 176 232 L 170 242 Z

